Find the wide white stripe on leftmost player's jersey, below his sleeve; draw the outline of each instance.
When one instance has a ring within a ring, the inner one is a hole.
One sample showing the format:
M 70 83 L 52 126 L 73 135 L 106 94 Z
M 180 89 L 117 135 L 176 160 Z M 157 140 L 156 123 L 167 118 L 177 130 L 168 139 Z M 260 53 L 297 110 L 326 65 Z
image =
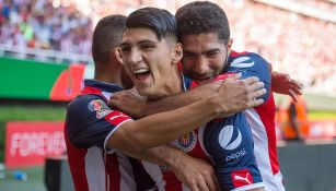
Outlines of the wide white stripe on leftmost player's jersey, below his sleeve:
M 96 146 L 88 148 L 85 174 L 90 191 L 105 190 L 105 163 L 102 155 L 102 150 Z

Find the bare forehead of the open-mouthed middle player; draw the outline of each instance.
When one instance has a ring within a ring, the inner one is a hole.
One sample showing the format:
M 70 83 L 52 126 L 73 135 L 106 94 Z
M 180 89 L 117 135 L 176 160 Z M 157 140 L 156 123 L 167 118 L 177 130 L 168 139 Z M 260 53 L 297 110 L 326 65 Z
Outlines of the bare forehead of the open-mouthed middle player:
M 155 33 L 149 28 L 126 28 L 121 44 L 135 44 L 142 40 L 159 41 Z

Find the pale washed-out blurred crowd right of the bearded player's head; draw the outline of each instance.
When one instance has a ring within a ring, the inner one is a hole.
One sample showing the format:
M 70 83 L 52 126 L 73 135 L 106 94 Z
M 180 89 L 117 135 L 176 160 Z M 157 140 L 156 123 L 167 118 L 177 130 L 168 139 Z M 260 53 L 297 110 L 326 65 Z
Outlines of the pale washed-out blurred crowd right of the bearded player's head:
M 336 95 L 335 23 L 250 1 L 224 9 L 237 49 L 260 53 L 306 91 Z

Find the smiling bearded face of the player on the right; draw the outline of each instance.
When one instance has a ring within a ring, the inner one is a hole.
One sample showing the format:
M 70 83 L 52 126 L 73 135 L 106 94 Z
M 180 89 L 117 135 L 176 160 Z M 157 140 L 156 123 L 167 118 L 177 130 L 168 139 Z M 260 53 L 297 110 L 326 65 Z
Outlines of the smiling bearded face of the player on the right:
M 216 33 L 184 35 L 183 70 L 198 82 L 208 82 L 219 75 L 227 64 L 232 40 L 227 44 Z

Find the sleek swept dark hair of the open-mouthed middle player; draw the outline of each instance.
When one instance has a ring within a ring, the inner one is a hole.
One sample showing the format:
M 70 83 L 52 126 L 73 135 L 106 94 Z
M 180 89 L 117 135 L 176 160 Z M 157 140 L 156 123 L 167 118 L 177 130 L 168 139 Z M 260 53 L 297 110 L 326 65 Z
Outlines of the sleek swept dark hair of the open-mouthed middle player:
M 128 15 L 126 28 L 146 27 L 152 29 L 158 39 L 173 37 L 176 40 L 176 21 L 169 11 L 158 8 L 142 8 Z

